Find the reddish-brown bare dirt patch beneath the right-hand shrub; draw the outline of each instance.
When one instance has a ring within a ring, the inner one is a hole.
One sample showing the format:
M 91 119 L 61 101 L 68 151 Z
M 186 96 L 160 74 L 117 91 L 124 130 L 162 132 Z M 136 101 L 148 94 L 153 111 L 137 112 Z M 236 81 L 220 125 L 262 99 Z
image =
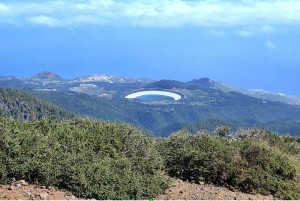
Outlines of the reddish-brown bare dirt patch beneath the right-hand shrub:
M 192 184 L 176 180 L 173 187 L 159 196 L 160 200 L 273 200 L 273 196 L 231 191 L 225 187 L 208 184 Z

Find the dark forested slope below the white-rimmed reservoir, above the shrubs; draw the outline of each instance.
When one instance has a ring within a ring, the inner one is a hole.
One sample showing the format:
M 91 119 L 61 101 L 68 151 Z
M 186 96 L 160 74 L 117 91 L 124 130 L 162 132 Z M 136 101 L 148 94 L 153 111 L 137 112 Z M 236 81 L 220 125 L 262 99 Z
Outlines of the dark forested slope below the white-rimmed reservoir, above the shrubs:
M 121 98 L 99 98 L 87 94 L 39 91 L 32 93 L 76 114 L 131 123 L 156 136 L 167 136 L 179 129 L 208 119 L 226 119 L 234 123 L 231 126 L 233 128 L 264 127 L 279 133 L 292 135 L 300 133 L 300 127 L 296 121 L 289 124 L 290 127 L 284 122 L 287 118 L 299 120 L 299 107 L 280 102 L 264 104 L 258 99 L 240 94 L 220 94 L 215 102 L 206 105 L 189 105 L 184 102 L 160 105 L 142 104 L 139 101 Z M 277 126 L 267 125 L 268 122 L 275 120 L 281 123 Z

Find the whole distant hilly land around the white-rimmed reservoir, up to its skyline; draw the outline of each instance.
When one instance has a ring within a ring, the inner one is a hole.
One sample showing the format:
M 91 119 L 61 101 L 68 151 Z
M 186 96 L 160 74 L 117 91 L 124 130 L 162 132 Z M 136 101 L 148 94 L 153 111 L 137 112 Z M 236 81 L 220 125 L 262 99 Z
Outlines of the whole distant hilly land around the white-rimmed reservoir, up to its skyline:
M 268 99 L 257 98 L 248 90 L 209 78 L 181 82 L 91 75 L 66 80 L 44 72 L 34 78 L 1 77 L 0 86 L 26 90 L 78 115 L 128 122 L 159 136 L 207 119 L 255 122 L 254 126 L 287 118 L 296 123 L 300 121 L 300 106 L 297 104 L 273 100 L 271 96 Z M 181 99 L 147 101 L 125 98 L 148 90 L 176 93 Z M 279 125 L 283 127 L 283 124 Z M 274 131 L 282 131 L 279 127 L 273 128 Z M 289 131 L 299 135 L 297 129 Z

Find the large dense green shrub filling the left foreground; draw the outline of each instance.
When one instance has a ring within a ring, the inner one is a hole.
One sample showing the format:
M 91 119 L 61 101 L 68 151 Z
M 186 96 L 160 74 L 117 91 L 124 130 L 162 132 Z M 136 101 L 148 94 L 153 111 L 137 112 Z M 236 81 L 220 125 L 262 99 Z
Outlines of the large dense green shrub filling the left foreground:
M 0 118 L 0 181 L 25 179 L 84 198 L 148 198 L 167 188 L 155 148 L 155 139 L 121 123 Z

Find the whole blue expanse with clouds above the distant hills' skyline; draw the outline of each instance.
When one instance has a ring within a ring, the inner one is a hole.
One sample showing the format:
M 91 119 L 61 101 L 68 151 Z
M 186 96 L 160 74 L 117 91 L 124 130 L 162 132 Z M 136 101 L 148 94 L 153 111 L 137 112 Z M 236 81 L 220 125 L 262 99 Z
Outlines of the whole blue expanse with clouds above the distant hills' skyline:
M 0 76 L 51 71 L 300 96 L 300 0 L 0 0 Z

